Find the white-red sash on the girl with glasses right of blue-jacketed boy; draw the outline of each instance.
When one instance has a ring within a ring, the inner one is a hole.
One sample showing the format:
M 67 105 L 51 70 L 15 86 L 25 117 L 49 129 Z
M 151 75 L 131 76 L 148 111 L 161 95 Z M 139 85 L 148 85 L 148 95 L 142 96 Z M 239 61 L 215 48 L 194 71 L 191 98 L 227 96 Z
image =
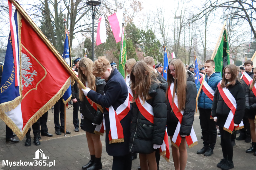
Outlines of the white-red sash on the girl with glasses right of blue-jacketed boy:
M 234 98 L 234 96 L 230 93 L 230 91 L 226 87 L 222 89 L 220 87 L 220 84 L 221 84 L 221 81 L 218 84 L 219 93 L 220 93 L 223 101 L 230 108 L 230 112 L 228 114 L 228 117 L 224 124 L 223 129 L 228 131 L 229 133 L 232 133 L 234 128 L 235 128 L 235 130 L 243 128 L 243 121 L 241 121 L 241 123 L 238 126 L 236 126 L 236 127 L 234 126 L 234 115 L 235 115 L 236 109 L 237 109 L 237 102 L 236 102 L 236 99 Z

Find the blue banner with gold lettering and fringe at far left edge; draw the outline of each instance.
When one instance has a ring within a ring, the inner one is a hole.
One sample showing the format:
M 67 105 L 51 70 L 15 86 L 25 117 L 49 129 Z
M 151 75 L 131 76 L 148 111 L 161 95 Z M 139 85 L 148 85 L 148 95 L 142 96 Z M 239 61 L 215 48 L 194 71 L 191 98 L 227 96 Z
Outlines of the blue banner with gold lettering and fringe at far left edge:
M 8 37 L 7 49 L 5 54 L 5 61 L 3 67 L 3 74 L 0 83 L 0 113 L 8 112 L 17 107 L 22 100 L 22 90 L 20 86 L 20 59 L 19 59 L 19 29 L 17 21 L 17 11 L 15 10 L 12 15 L 12 28 Z M 12 36 L 11 32 L 13 32 Z M 15 47 L 13 47 L 15 45 Z M 14 57 L 13 48 L 17 50 L 16 56 Z M 14 64 L 14 58 L 17 57 L 16 66 Z M 17 68 L 18 66 L 18 68 Z M 15 74 L 15 68 L 17 73 Z M 18 77 L 16 77 L 16 76 Z M 18 79 L 18 86 L 15 86 L 15 79 Z

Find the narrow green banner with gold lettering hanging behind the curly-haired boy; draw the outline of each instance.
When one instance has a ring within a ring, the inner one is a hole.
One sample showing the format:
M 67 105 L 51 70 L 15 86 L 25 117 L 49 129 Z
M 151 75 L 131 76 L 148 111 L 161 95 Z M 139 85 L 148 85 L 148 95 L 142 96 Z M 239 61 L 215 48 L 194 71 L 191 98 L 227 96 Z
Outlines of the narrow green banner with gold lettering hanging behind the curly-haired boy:
M 124 77 L 126 60 L 127 60 L 126 43 L 125 43 L 125 34 L 123 33 L 123 40 L 121 41 L 121 49 L 120 49 L 120 55 L 119 55 L 119 72 L 122 74 L 123 77 Z

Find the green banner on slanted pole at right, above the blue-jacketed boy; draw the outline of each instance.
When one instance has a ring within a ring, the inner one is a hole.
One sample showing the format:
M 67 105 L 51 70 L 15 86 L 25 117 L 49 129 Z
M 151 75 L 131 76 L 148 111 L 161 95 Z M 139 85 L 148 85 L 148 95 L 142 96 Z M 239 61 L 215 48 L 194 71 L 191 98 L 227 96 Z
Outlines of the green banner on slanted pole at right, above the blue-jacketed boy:
M 229 46 L 228 46 L 228 37 L 226 29 L 223 32 L 222 39 L 220 41 L 217 53 L 214 57 L 215 62 L 215 71 L 221 72 L 222 70 L 230 64 L 230 55 L 229 55 Z

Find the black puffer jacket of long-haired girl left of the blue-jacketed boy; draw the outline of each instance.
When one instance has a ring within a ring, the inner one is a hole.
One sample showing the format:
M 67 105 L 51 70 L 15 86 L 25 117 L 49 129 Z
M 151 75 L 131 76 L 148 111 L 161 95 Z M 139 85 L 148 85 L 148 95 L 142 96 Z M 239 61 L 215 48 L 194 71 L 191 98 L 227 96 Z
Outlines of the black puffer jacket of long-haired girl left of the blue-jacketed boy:
M 169 90 L 169 89 L 168 89 Z M 196 111 L 196 84 L 194 74 L 191 72 L 187 72 L 187 89 L 186 89 L 186 103 L 184 114 L 180 126 L 180 135 L 190 135 L 191 128 L 194 122 L 194 115 Z M 175 116 L 174 112 L 172 111 L 172 107 L 170 106 L 169 99 L 167 98 L 166 101 L 167 105 L 167 130 L 168 135 L 170 136 L 169 131 L 174 132 L 176 125 L 178 124 L 178 118 Z M 175 126 L 173 126 L 175 124 Z

